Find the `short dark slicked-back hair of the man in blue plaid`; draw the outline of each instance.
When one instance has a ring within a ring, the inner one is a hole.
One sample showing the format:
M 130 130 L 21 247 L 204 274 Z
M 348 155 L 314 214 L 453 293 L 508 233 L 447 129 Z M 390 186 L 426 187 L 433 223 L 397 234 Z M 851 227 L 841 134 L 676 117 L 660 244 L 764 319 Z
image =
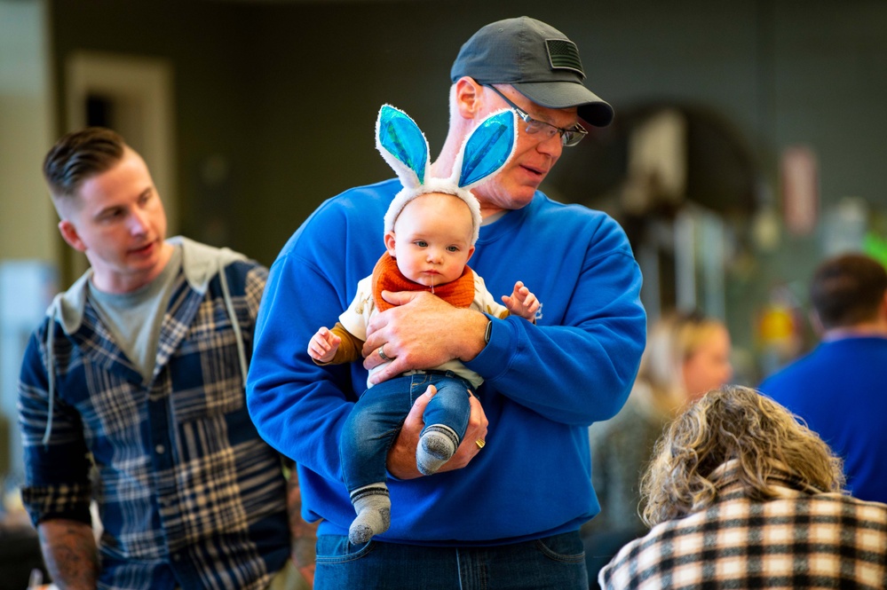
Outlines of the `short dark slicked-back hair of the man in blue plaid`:
M 54 200 L 75 196 L 84 181 L 114 168 L 126 143 L 115 131 L 87 127 L 59 138 L 44 159 L 44 178 Z

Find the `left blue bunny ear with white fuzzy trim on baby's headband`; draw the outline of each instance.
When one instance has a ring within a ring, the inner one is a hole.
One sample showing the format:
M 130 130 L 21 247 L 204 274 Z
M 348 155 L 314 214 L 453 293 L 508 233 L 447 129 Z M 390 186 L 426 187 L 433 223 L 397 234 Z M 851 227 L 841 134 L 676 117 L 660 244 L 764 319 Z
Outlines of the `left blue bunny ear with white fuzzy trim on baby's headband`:
M 415 187 L 425 182 L 430 166 L 428 142 L 408 114 L 391 105 L 382 106 L 376 121 L 376 147 L 402 185 Z

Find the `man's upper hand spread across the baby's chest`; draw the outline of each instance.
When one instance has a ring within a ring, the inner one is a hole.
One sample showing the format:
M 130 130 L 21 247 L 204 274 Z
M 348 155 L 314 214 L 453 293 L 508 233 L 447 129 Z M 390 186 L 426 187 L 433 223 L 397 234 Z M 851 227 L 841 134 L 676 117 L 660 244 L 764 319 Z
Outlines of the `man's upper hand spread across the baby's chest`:
M 376 314 L 367 326 L 363 366 L 372 369 L 384 358 L 384 346 L 392 363 L 371 377 L 376 383 L 411 369 L 429 369 L 455 358 L 467 361 L 478 356 L 487 342 L 487 317 L 479 311 L 453 307 L 425 291 L 383 291 L 385 301 L 396 307 Z

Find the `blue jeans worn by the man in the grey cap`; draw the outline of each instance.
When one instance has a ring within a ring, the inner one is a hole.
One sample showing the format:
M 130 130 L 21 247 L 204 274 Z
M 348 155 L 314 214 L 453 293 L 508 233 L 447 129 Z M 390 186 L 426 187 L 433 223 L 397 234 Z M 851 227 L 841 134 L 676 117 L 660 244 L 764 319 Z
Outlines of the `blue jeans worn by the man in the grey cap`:
M 503 515 L 503 517 L 505 517 Z M 314 590 L 588 590 L 579 532 L 495 547 L 317 539 Z

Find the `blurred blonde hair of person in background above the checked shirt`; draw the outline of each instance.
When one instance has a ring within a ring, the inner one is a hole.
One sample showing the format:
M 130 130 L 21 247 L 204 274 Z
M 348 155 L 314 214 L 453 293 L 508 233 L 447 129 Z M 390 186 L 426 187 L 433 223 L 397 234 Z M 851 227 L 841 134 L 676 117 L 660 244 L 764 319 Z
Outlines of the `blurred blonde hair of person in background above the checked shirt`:
M 719 320 L 695 312 L 671 313 L 650 329 L 638 380 L 650 386 L 653 404 L 662 413 L 675 413 L 685 404 L 684 363 L 722 329 L 725 326 Z

